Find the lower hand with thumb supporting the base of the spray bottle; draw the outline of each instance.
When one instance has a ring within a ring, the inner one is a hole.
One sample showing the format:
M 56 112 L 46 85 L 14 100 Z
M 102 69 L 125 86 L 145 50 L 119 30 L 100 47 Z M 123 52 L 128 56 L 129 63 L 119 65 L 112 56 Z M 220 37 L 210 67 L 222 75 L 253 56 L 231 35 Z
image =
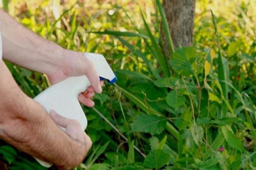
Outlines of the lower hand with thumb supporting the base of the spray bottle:
M 74 119 L 68 119 L 59 115 L 56 111 L 51 110 L 49 112 L 52 120 L 59 126 L 65 128 L 65 133 L 73 140 L 78 142 L 79 148 L 76 150 L 76 154 L 79 155 L 79 160 L 75 160 L 75 163 L 67 164 L 66 167 L 60 167 L 61 169 L 71 169 L 77 167 L 84 160 L 90 147 L 92 146 L 92 141 L 90 137 L 81 129 L 79 121 Z

